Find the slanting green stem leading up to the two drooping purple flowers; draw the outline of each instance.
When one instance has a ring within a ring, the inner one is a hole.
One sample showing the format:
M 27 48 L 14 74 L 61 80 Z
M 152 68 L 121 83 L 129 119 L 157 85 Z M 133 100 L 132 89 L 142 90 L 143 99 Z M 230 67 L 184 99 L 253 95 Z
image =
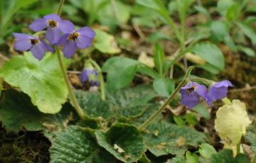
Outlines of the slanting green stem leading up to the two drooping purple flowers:
M 149 119 L 147 119 L 141 126 L 139 126 L 139 130 L 143 130 L 144 128 L 146 128 L 150 123 L 152 123 L 154 121 L 154 119 L 159 116 L 159 114 L 164 110 L 164 108 L 166 108 L 166 106 L 174 99 L 174 96 L 178 93 L 178 91 L 181 89 L 181 87 L 186 84 L 186 79 L 188 78 L 188 76 L 191 74 L 191 71 L 194 67 L 189 67 L 188 70 L 186 71 L 185 76 L 183 77 L 182 81 L 180 82 L 180 84 L 178 84 L 178 86 L 176 87 L 176 89 L 174 90 L 174 92 L 171 94 L 171 96 L 159 107 L 159 109 L 151 116 L 149 117 Z

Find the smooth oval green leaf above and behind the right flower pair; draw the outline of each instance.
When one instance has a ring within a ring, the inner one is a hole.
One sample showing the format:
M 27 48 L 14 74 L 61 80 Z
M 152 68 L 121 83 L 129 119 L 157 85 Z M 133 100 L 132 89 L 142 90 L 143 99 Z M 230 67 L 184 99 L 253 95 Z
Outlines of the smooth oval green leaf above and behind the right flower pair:
M 203 58 L 203 60 L 213 64 L 213 66 L 218 69 L 224 69 L 224 56 L 216 45 L 211 43 L 198 43 L 192 47 L 191 52 L 194 52 L 196 55 Z

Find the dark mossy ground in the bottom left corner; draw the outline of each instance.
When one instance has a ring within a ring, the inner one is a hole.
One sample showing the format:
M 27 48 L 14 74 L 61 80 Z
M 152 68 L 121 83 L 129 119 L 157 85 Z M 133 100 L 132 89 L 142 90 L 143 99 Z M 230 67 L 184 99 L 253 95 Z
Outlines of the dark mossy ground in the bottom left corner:
M 0 128 L 0 160 L 3 163 L 49 162 L 49 147 L 50 142 L 40 132 L 8 133 Z

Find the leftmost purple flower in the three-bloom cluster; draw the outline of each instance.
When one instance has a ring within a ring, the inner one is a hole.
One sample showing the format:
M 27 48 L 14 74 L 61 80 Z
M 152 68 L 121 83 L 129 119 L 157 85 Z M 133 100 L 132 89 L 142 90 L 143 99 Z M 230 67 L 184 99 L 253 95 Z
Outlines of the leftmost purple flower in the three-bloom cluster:
M 17 39 L 14 44 L 14 49 L 19 51 L 31 50 L 34 57 L 38 60 L 46 55 L 46 50 L 53 52 L 53 47 L 48 45 L 44 40 L 27 35 L 23 33 L 14 33 L 14 37 Z

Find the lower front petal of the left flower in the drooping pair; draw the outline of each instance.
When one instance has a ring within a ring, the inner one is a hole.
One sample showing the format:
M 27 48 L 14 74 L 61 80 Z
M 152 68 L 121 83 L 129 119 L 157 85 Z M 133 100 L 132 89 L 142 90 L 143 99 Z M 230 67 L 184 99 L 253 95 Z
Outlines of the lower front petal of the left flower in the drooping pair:
M 196 92 L 190 93 L 186 89 L 181 89 L 181 103 L 188 108 L 193 108 L 199 103 L 199 96 Z

